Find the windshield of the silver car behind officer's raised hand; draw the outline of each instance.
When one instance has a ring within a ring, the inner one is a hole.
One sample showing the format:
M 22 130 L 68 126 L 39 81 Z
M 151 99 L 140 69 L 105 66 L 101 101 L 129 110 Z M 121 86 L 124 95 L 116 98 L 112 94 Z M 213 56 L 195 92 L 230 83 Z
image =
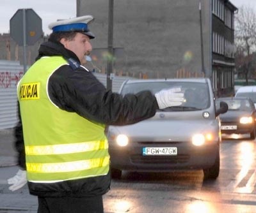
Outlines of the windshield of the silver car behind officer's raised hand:
M 153 94 L 172 87 L 180 87 L 184 92 L 184 103 L 179 107 L 169 107 L 164 111 L 191 111 L 209 108 L 209 87 L 206 83 L 198 82 L 134 82 L 125 84 L 121 94 L 136 94 L 140 91 L 149 90 Z

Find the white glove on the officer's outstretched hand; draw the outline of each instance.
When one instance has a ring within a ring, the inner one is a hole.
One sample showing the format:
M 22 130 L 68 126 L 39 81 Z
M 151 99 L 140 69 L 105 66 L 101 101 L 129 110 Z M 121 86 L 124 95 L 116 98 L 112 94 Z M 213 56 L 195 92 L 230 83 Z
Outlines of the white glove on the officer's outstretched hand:
M 163 89 L 155 94 L 160 109 L 179 106 L 184 102 L 184 92 L 179 87 Z

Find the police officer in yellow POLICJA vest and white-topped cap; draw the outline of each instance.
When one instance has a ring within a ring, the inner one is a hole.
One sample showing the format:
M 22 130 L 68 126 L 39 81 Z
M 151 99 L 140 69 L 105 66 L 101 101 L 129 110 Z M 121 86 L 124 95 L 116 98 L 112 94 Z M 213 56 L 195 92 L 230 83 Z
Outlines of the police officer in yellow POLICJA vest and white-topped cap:
M 88 28 L 92 20 L 86 15 L 50 24 L 49 41 L 18 85 L 23 170 L 8 182 L 15 191 L 28 180 L 38 212 L 103 212 L 111 179 L 105 126 L 148 119 L 184 99 L 179 88 L 124 97 L 106 90 L 82 66 L 95 38 Z

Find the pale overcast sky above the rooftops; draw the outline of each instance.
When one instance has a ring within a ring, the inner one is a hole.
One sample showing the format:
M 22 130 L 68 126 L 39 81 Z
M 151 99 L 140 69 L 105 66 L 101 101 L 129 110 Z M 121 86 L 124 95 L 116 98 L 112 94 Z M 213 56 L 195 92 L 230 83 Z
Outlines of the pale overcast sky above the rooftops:
M 256 13 L 256 0 L 230 1 L 238 8 L 243 5 L 252 6 Z M 48 29 L 49 23 L 57 19 L 76 17 L 76 0 L 0 0 L 0 2 L 0 33 L 10 33 L 10 19 L 19 9 L 33 9 L 42 18 L 45 34 L 51 33 Z

